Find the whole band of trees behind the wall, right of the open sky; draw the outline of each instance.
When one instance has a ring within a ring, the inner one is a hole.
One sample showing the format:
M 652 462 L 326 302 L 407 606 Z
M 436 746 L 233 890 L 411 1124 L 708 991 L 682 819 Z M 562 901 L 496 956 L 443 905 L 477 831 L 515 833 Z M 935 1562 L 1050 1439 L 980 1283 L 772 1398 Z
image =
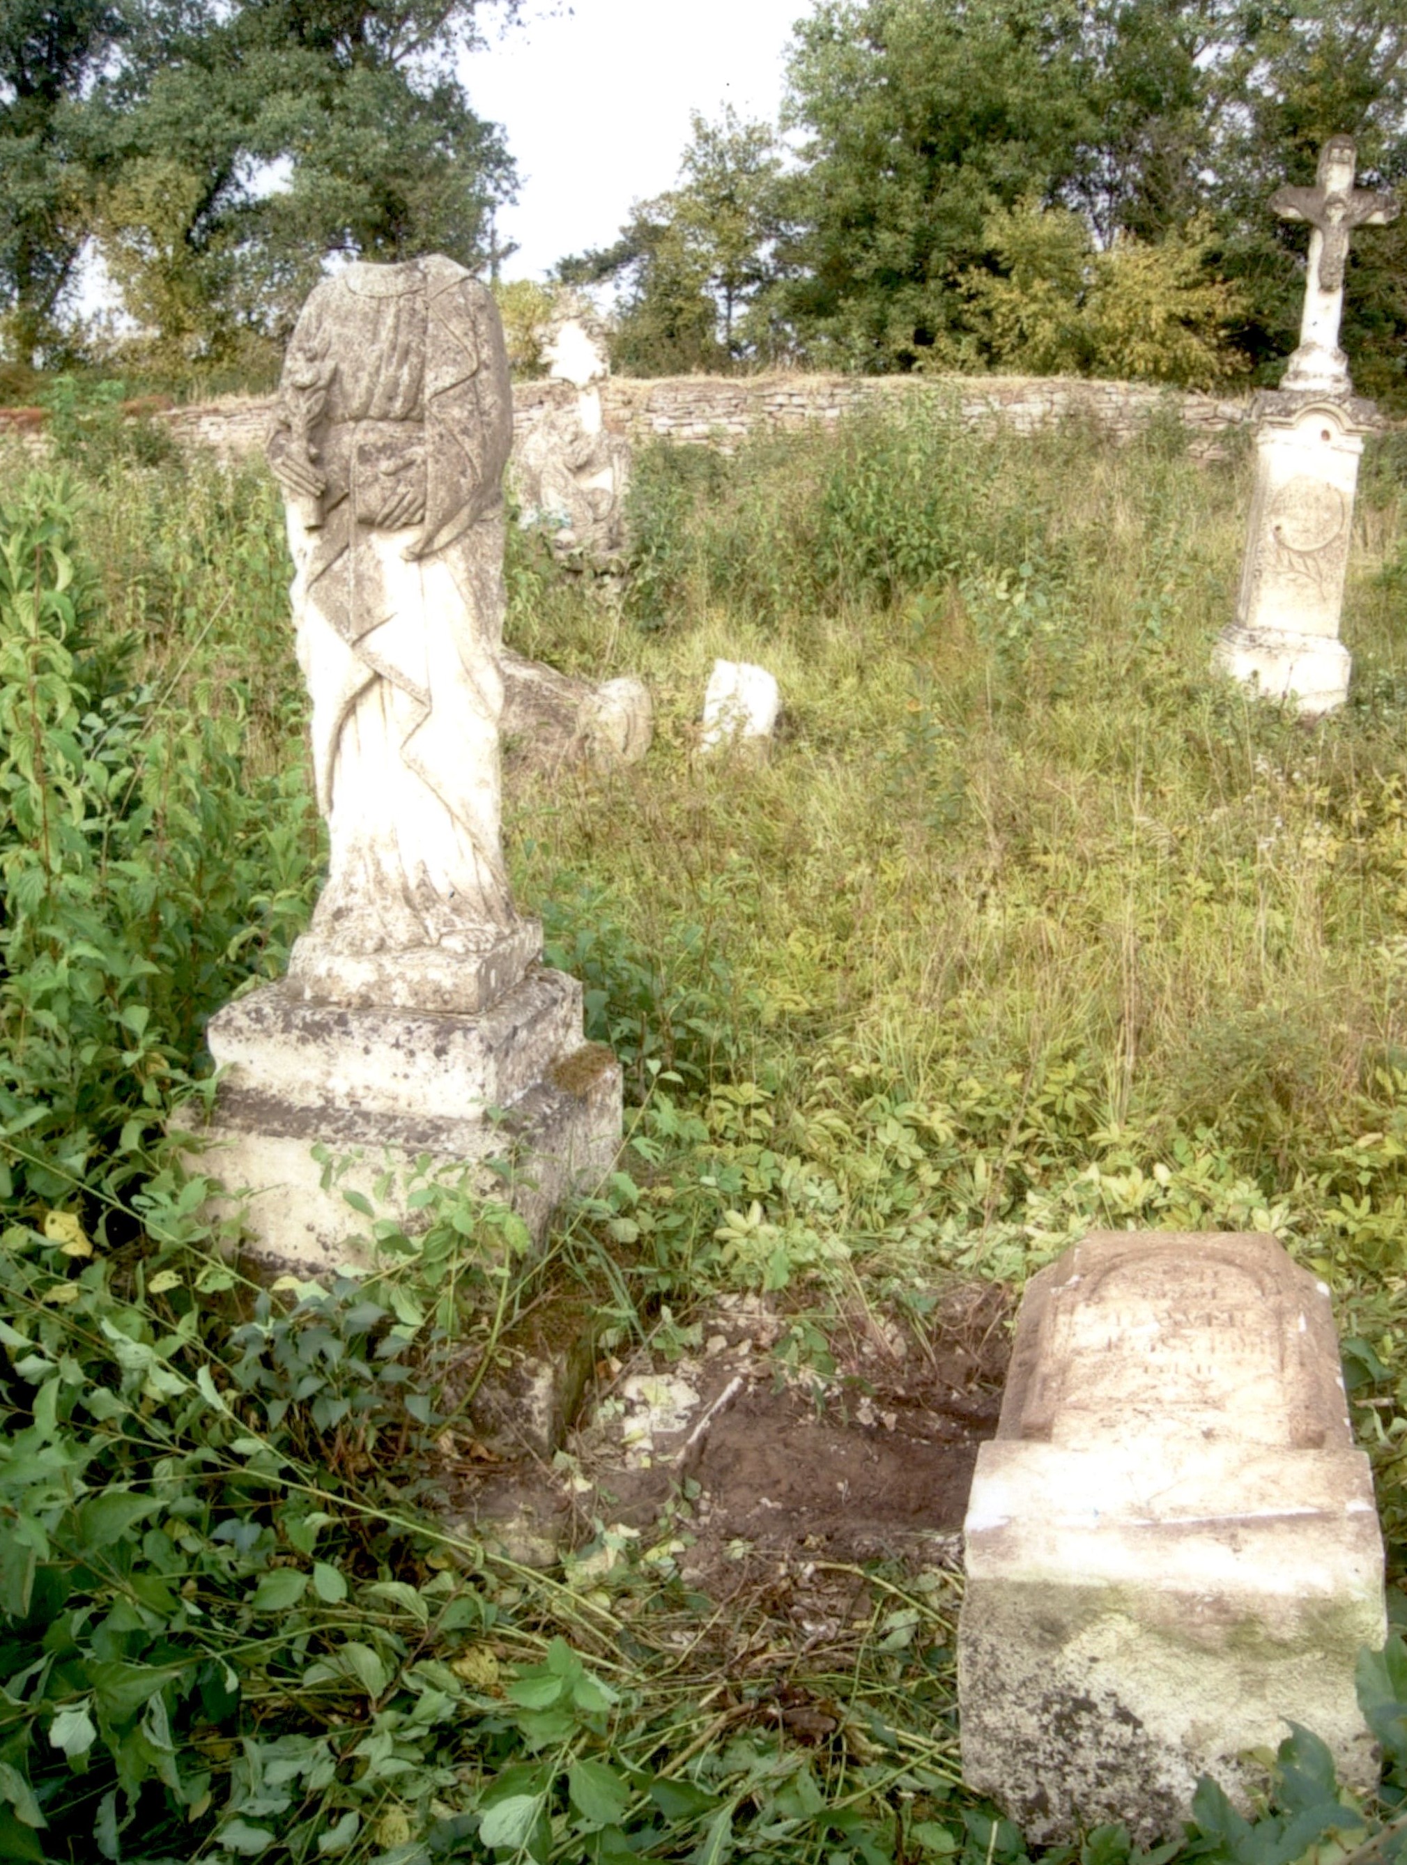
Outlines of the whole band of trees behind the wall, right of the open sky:
M 1407 0 L 817 0 L 782 136 L 696 117 L 677 188 L 573 276 L 621 283 L 618 360 L 644 371 L 1267 379 L 1306 242 L 1267 198 L 1340 131 L 1368 179 L 1407 177 L 1405 58 Z M 707 162 L 745 132 L 765 170 L 737 214 Z M 1403 261 L 1403 224 L 1355 244 L 1375 394 L 1407 390 Z

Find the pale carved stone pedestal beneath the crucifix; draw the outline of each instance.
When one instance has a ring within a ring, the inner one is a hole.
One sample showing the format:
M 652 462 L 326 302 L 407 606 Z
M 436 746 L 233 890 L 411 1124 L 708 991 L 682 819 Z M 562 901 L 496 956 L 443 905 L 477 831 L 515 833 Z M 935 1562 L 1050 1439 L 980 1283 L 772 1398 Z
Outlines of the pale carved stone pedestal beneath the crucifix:
M 1235 621 L 1217 666 L 1301 712 L 1342 705 L 1351 658 L 1338 638 L 1353 496 L 1370 401 L 1275 390 L 1256 401 L 1256 494 Z

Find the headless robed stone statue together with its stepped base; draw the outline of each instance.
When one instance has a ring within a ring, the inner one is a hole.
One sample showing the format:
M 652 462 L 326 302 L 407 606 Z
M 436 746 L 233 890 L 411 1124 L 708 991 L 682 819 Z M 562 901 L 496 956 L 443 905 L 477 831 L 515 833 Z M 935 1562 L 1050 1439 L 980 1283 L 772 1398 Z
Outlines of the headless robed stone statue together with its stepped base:
M 541 1229 L 620 1138 L 620 1069 L 582 1043 L 580 985 L 543 970 L 500 845 L 511 436 L 498 311 L 459 265 L 313 289 L 269 463 L 328 875 L 287 977 L 211 1020 L 203 1160 L 252 1194 L 254 1255 L 304 1274 L 356 1257 L 347 1192 L 409 1227 L 425 1173 L 511 1156 Z

